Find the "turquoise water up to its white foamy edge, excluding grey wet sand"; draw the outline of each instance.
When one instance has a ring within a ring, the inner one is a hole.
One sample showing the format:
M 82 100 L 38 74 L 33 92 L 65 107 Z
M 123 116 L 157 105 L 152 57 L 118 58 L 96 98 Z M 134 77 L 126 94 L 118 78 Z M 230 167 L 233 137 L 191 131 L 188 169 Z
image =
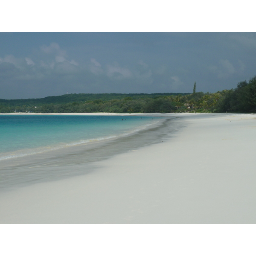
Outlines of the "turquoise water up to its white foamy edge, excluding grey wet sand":
M 161 117 L 0 115 L 0 160 L 132 134 L 155 124 L 159 118 Z

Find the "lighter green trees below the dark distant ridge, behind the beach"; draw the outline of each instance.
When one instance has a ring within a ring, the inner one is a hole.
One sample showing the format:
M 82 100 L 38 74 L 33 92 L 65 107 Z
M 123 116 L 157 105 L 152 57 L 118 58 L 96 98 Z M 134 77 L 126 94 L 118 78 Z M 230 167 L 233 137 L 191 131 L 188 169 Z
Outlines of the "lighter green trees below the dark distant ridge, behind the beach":
M 87 100 L 85 102 L 49 103 L 41 105 L 0 105 L 0 113 L 170 113 L 183 111 L 214 112 L 214 107 L 221 94 L 192 93 L 186 95 L 168 95 L 133 99 Z

